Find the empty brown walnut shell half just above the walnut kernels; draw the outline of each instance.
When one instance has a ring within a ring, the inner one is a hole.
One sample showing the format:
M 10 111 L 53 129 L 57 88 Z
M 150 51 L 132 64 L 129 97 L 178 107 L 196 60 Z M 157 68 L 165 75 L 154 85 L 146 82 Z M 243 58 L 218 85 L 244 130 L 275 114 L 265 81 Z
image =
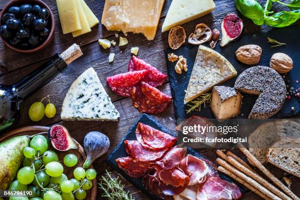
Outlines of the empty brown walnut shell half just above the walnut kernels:
M 169 46 L 172 50 L 178 49 L 185 42 L 185 30 L 181 26 L 173 27 L 169 32 Z

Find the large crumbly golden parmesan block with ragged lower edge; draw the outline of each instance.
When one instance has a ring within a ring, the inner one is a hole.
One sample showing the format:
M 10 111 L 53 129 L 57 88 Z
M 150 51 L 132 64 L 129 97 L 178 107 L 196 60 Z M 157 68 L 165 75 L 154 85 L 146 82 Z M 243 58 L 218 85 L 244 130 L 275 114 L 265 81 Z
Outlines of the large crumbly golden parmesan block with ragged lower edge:
M 164 0 L 105 0 L 101 23 L 108 30 L 155 37 Z

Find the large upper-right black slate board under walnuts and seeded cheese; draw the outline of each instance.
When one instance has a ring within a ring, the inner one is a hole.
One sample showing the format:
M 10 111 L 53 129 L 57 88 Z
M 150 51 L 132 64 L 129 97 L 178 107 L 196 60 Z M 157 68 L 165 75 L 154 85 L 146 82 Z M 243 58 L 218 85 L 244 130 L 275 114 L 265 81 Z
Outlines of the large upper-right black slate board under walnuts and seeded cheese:
M 274 47 L 271 48 L 272 44 L 267 43 L 267 36 L 273 39 L 276 39 L 282 43 L 286 43 L 287 46 Z M 229 79 L 221 85 L 225 86 L 233 86 L 236 78 L 240 75 L 244 70 L 248 69 L 249 65 L 245 65 L 239 62 L 235 57 L 235 51 L 243 46 L 248 44 L 259 45 L 262 48 L 262 56 L 258 65 L 269 66 L 270 59 L 272 55 L 276 52 L 282 52 L 288 54 L 294 62 L 294 68 L 285 75 L 284 80 L 289 80 L 290 87 L 299 88 L 300 87 L 300 27 L 288 27 L 281 29 L 273 29 L 269 32 L 260 32 L 255 34 L 244 34 L 237 41 L 230 43 L 227 47 L 221 48 L 220 41 L 216 45 L 217 52 L 221 53 L 225 56 L 225 58 L 233 65 L 233 67 L 237 71 L 237 76 Z M 206 45 L 207 46 L 207 45 Z M 194 111 L 190 114 L 186 114 L 186 110 L 189 108 L 188 105 L 183 104 L 185 90 L 188 86 L 190 76 L 193 70 L 195 58 L 197 55 L 198 46 L 194 45 L 186 45 L 180 47 L 178 50 L 172 50 L 168 48 L 165 50 L 167 66 L 168 66 L 168 74 L 171 83 L 171 91 L 173 96 L 173 102 L 175 107 L 175 114 L 177 119 L 186 119 L 192 115 L 201 115 L 208 119 L 214 119 L 209 106 L 201 106 L 201 111 Z M 183 55 L 188 62 L 188 72 L 183 72 L 181 75 L 178 75 L 175 70 L 176 62 L 172 63 L 168 60 L 168 53 L 174 52 L 176 55 Z M 299 80 L 299 83 L 296 82 Z M 275 88 L 276 89 L 276 88 Z M 252 109 L 252 106 L 257 99 L 257 96 L 251 96 L 247 94 L 243 94 L 243 105 L 241 109 L 241 113 L 237 116 L 237 118 L 248 118 L 248 115 Z M 188 103 L 191 104 L 191 103 Z M 295 108 L 295 111 L 291 111 L 291 107 Z M 284 106 L 278 113 L 272 118 L 288 118 L 292 116 L 296 116 L 300 114 L 300 101 L 296 97 L 292 97 L 290 100 L 286 100 Z

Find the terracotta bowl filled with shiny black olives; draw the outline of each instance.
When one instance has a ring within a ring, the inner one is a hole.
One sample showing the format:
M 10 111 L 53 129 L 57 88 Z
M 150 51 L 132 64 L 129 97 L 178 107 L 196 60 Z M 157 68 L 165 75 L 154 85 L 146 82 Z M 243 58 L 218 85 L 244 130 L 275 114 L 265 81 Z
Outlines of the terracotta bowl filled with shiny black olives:
M 54 37 L 54 17 L 41 0 L 12 0 L 0 13 L 0 37 L 12 50 L 33 53 Z

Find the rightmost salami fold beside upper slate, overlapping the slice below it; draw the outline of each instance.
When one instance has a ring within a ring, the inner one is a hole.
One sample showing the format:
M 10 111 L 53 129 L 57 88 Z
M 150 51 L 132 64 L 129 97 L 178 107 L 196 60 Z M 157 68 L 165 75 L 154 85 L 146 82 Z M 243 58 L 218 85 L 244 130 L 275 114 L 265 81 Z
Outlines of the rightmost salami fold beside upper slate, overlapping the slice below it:
M 161 91 L 159 91 L 155 87 L 152 87 L 148 83 L 142 81 L 141 86 L 142 86 L 141 87 L 142 92 L 144 93 L 146 98 L 150 101 L 155 101 L 157 103 L 164 103 L 172 100 L 172 97 L 162 93 Z

